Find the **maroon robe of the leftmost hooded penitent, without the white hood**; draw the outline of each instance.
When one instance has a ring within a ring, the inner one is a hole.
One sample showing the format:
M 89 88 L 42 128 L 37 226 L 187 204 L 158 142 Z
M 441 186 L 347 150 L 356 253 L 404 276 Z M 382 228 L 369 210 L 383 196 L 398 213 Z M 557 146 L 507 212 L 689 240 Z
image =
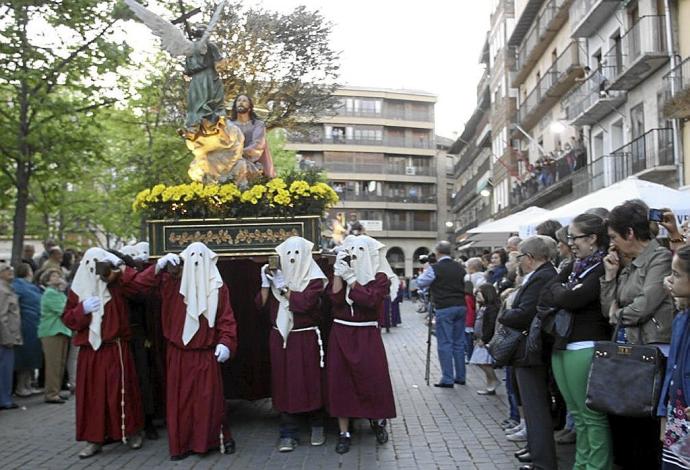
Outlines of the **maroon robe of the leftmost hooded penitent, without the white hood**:
M 108 284 L 110 301 L 101 322 L 101 347 L 89 343 L 91 314 L 84 314 L 79 297 L 70 290 L 63 323 L 75 332 L 77 359 L 77 440 L 98 444 L 122 439 L 122 375 L 124 372 L 125 436 L 144 427 L 144 415 L 134 360 L 127 343 L 130 337 L 127 299 L 136 294 L 137 272 L 124 268 L 122 275 Z M 121 365 L 123 367 L 121 367 Z

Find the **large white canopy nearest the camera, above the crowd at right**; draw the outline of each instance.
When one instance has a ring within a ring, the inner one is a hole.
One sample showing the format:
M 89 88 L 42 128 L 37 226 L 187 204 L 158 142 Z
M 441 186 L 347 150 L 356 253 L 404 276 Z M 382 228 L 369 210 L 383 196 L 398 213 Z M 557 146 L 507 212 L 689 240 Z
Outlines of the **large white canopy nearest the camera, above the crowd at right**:
M 630 199 L 641 199 L 651 209 L 669 208 L 677 217 L 678 225 L 690 216 L 690 193 L 678 191 L 662 184 L 627 178 L 606 188 L 600 189 L 565 204 L 552 211 L 535 216 L 532 220 L 520 223 L 520 237 L 536 234 L 536 227 L 545 220 L 557 220 L 563 225 L 569 224 L 575 217 L 588 209 L 603 207 L 611 210 Z

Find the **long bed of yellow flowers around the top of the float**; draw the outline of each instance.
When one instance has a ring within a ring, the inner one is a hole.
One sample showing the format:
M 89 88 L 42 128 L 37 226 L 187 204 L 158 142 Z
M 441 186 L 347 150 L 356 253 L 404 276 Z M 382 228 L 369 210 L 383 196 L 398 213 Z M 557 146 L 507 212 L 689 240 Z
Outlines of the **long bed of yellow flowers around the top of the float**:
M 154 217 L 288 217 L 322 213 L 338 202 L 325 183 L 274 178 L 241 191 L 235 184 L 157 184 L 139 192 L 135 211 Z

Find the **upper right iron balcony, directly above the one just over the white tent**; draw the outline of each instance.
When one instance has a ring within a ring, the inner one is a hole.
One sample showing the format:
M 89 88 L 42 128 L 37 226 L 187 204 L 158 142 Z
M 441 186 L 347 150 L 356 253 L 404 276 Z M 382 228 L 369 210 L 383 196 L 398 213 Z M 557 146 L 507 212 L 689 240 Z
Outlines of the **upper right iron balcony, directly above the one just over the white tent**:
M 604 56 L 606 87 L 631 90 L 668 60 L 664 17 L 643 16 Z

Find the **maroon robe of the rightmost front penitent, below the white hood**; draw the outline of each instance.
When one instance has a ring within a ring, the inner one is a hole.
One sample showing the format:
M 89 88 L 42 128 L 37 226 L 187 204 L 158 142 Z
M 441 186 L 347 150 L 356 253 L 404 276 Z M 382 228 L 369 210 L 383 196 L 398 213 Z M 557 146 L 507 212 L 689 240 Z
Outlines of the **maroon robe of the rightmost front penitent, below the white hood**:
M 344 284 L 344 283 L 343 283 Z M 350 290 L 352 308 L 345 301 L 347 287 L 334 294 L 333 317 L 348 322 L 377 322 L 390 281 L 377 273 L 365 286 Z M 348 326 L 333 322 L 328 342 L 328 406 L 339 418 L 383 419 L 395 417 L 393 386 L 386 350 L 377 326 Z

